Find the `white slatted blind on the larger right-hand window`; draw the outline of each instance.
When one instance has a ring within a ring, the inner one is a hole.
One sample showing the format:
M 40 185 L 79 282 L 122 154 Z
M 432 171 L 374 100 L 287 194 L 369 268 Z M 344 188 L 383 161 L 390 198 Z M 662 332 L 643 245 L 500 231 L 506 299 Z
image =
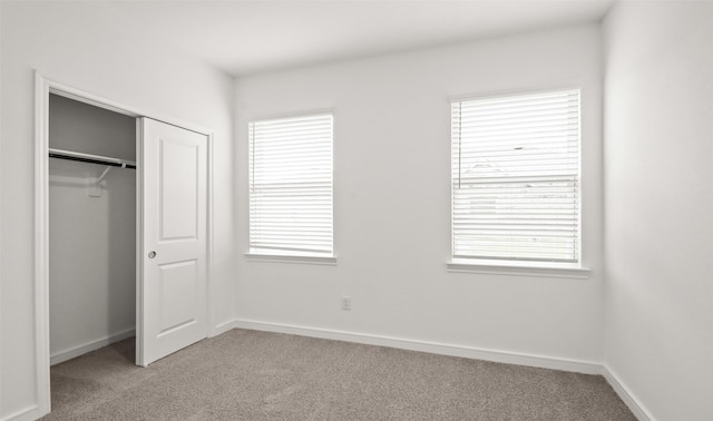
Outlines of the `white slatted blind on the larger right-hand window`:
M 579 90 L 451 102 L 455 258 L 579 263 Z

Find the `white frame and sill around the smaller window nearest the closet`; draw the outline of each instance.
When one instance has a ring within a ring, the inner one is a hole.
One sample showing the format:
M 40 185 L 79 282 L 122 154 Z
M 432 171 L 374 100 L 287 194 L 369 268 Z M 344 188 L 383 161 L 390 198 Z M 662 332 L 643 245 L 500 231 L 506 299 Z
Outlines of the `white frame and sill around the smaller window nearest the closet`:
M 304 117 L 319 117 L 319 116 L 330 116 L 332 133 L 331 133 L 331 172 L 330 172 L 330 185 L 331 185 L 331 253 L 318 253 L 318 252 L 306 252 L 306 251 L 290 251 L 290 249 L 279 249 L 279 248 L 266 248 L 266 247 L 253 247 L 251 244 L 251 226 L 252 226 L 252 216 L 253 212 L 251 209 L 251 200 L 252 200 L 252 188 L 251 180 L 253 179 L 253 157 L 250 154 L 250 150 L 253 148 L 253 136 L 251 135 L 251 127 L 255 124 L 264 123 L 264 121 L 273 121 L 273 120 L 289 120 L 289 119 L 299 119 Z M 244 253 L 246 260 L 252 262 L 267 262 L 267 263 L 291 263 L 291 264 L 312 264 L 312 265 L 336 265 L 336 235 L 335 235 L 335 189 L 334 189 L 334 127 L 335 127 L 335 117 L 333 109 L 318 109 L 310 110 L 296 114 L 287 114 L 287 115 L 277 115 L 277 116 L 268 116 L 261 118 L 251 118 L 247 121 L 247 143 L 248 143 L 248 157 L 247 157 L 247 172 L 248 172 L 248 186 L 247 186 L 247 251 Z

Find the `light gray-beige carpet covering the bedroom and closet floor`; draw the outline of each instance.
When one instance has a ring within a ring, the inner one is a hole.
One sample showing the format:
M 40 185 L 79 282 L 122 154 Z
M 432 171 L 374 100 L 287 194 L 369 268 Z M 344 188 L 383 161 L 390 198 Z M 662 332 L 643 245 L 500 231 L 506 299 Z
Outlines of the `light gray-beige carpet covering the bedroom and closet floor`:
M 147 369 L 126 340 L 51 369 L 46 420 L 635 420 L 606 381 L 233 330 Z

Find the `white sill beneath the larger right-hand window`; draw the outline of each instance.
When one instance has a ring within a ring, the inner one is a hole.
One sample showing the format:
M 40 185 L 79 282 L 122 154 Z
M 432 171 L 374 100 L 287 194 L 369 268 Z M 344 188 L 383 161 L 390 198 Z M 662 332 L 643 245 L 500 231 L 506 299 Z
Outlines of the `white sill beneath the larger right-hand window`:
M 570 280 L 588 280 L 592 270 L 570 264 L 537 264 L 498 261 L 452 260 L 446 263 L 448 272 L 480 273 L 489 275 L 561 277 Z

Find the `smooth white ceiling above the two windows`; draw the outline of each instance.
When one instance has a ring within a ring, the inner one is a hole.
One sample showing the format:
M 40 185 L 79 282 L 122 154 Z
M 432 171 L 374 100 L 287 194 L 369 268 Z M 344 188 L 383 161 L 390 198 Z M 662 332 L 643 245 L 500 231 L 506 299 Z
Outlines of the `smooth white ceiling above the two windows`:
M 594 22 L 614 0 L 108 1 L 233 76 Z

